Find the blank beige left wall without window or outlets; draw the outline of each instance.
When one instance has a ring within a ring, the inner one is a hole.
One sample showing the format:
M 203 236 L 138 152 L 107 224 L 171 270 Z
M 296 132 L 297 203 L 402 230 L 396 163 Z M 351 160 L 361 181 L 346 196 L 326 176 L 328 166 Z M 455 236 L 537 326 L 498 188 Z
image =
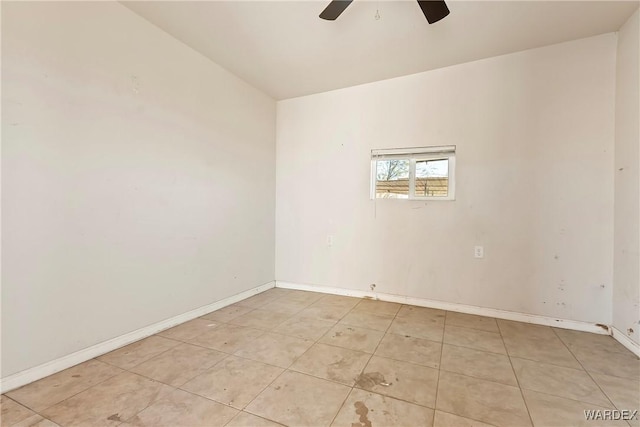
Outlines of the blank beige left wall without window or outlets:
M 3 377 L 274 279 L 272 99 L 115 2 L 2 39 Z

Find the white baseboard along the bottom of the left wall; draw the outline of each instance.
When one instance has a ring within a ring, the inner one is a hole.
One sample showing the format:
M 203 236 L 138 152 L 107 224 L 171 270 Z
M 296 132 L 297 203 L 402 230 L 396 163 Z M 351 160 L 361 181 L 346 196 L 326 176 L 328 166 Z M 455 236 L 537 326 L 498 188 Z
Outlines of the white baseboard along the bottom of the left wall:
M 253 296 L 257 293 L 264 292 L 267 289 L 273 288 L 274 286 L 275 282 L 265 283 L 264 285 L 249 289 L 247 291 L 233 295 L 229 298 L 216 301 L 212 304 L 196 308 L 195 310 L 188 311 L 170 319 L 166 319 L 161 322 L 154 323 L 153 325 L 140 328 L 133 332 L 120 335 L 119 337 L 112 338 L 108 341 L 92 345 L 91 347 L 76 351 L 75 353 L 71 353 L 59 359 L 55 359 L 42 365 L 26 369 L 13 375 L 9 375 L 6 378 L 0 379 L 0 393 L 5 393 L 18 387 L 22 387 L 23 385 L 55 374 L 56 372 L 60 372 L 79 363 L 86 362 L 87 360 L 91 360 L 95 357 L 116 350 L 127 344 L 131 344 L 132 342 L 139 341 L 143 338 L 147 338 L 151 335 L 157 334 L 158 332 L 164 331 L 165 329 L 169 329 L 181 323 L 193 320 L 197 317 L 204 316 L 205 314 L 211 313 L 215 310 L 219 310 L 238 301 L 242 301 L 243 299 L 249 298 L 250 296 Z

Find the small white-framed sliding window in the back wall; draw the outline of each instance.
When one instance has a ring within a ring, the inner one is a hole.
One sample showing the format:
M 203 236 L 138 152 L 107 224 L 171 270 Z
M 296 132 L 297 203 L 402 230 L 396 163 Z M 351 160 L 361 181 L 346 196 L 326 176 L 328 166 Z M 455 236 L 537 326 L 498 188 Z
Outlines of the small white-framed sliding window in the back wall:
M 455 199 L 455 146 L 371 151 L 371 198 Z

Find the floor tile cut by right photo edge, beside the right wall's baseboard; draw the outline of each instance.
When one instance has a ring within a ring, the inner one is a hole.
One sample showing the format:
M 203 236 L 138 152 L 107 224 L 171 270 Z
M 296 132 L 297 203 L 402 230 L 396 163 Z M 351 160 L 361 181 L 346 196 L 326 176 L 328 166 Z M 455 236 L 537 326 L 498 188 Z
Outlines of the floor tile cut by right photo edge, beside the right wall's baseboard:
M 630 351 L 618 353 L 600 347 L 576 347 L 572 352 L 582 366 L 591 373 L 640 378 L 640 360 Z

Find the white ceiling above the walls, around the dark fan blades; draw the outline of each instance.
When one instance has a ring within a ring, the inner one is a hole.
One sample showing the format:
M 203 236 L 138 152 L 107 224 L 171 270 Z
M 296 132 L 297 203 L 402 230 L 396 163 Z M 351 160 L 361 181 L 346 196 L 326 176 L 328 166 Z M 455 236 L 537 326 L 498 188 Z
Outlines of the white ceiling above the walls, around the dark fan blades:
M 123 2 L 275 99 L 388 79 L 616 31 L 636 1 L 448 1 L 429 25 L 416 1 Z M 376 9 L 381 19 L 376 20 Z

